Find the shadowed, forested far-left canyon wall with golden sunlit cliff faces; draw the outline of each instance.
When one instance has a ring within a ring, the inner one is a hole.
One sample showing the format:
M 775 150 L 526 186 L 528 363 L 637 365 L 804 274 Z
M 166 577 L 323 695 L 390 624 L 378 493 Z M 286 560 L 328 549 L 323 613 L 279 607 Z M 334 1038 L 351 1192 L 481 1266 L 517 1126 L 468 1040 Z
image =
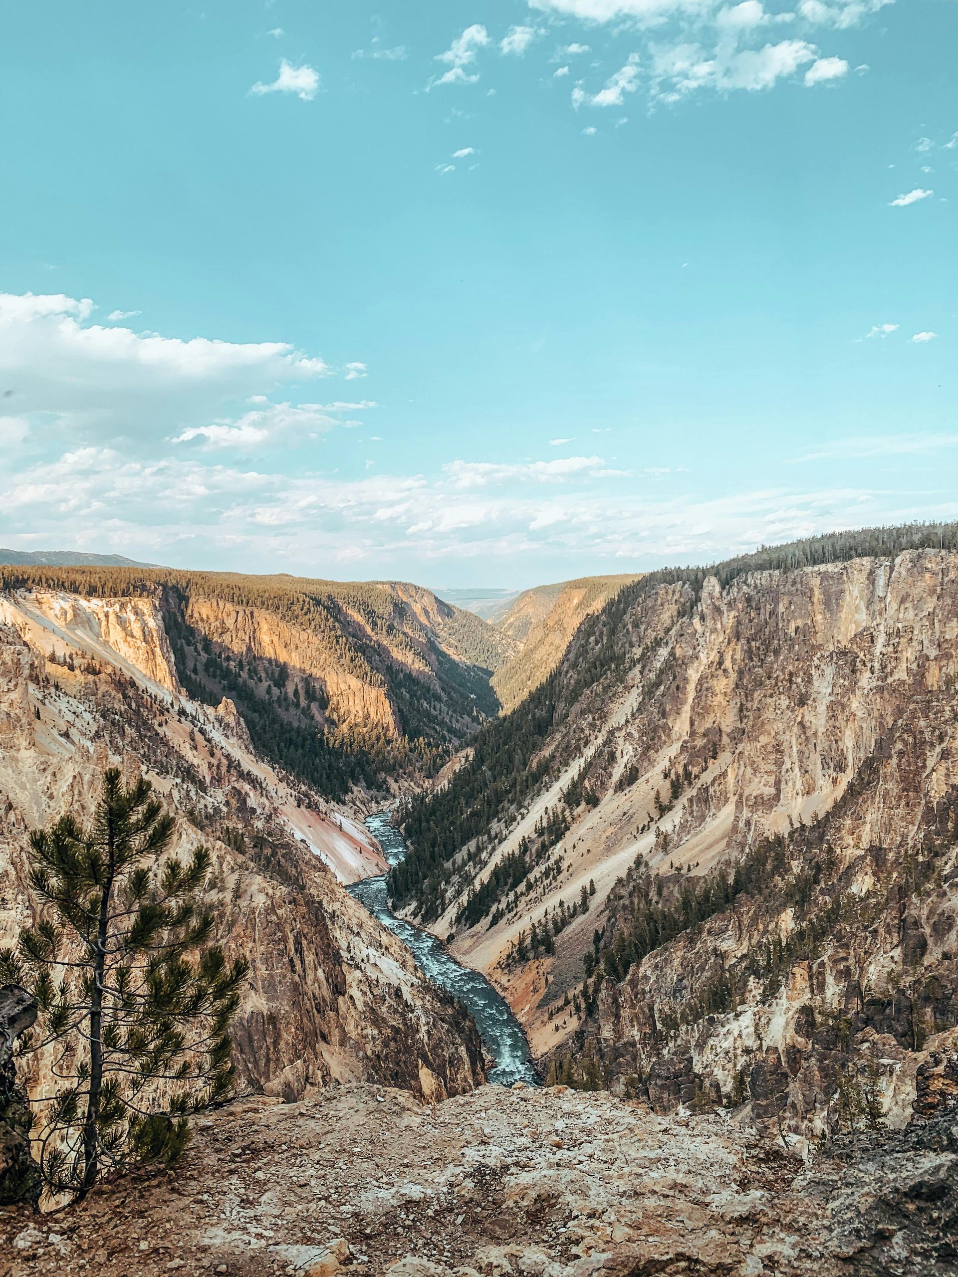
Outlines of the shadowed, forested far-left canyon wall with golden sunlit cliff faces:
M 489 678 L 515 650 L 400 582 L 0 567 L 0 591 L 91 650 L 107 642 L 114 663 L 135 649 L 147 672 L 152 653 L 149 677 L 167 690 L 231 700 L 261 753 L 335 799 L 382 798 L 438 770 L 498 710 Z

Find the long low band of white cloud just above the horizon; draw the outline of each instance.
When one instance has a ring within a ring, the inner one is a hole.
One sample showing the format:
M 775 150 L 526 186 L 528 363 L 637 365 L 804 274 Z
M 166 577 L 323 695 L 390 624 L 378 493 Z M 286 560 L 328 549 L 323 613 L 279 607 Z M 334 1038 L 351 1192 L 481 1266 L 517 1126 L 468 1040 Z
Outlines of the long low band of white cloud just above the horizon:
M 460 487 L 455 465 L 436 479 L 303 470 L 290 476 L 199 455 L 135 461 L 82 447 L 15 475 L 0 472 L 0 510 L 15 544 L 42 525 L 51 543 L 184 566 L 202 554 L 206 563 L 245 571 L 309 573 L 322 562 L 341 576 L 405 578 L 425 576 L 430 564 L 470 559 L 515 571 L 543 554 L 622 570 L 650 557 L 710 562 L 763 541 L 958 513 L 955 502 L 916 510 L 885 492 L 838 487 L 651 499 L 632 485 L 593 487 L 588 471 L 568 475 L 557 490 L 506 469 L 512 488 L 498 492 L 488 474 L 485 485 Z

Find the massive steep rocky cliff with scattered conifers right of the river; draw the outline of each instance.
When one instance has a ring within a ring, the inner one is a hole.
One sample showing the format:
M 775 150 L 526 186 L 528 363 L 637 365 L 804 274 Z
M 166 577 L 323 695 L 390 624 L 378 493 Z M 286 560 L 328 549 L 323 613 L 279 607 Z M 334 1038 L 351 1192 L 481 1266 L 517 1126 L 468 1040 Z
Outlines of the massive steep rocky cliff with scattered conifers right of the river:
M 800 1148 L 903 1121 L 958 1019 L 958 555 L 832 557 L 627 587 L 396 882 L 553 1074 Z

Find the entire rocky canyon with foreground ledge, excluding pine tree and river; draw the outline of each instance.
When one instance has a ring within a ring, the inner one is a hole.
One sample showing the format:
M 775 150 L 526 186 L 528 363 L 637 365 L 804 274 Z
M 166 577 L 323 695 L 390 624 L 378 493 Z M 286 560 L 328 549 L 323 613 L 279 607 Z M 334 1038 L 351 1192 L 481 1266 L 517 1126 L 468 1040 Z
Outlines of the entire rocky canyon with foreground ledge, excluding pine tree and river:
M 0 568 L 0 942 L 29 830 L 118 764 L 211 848 L 250 964 L 241 1097 L 171 1179 L 3 1214 L 0 1272 L 953 1271 L 958 547 L 881 531 L 494 623 L 402 582 Z M 487 1084 L 410 922 L 545 1087 Z

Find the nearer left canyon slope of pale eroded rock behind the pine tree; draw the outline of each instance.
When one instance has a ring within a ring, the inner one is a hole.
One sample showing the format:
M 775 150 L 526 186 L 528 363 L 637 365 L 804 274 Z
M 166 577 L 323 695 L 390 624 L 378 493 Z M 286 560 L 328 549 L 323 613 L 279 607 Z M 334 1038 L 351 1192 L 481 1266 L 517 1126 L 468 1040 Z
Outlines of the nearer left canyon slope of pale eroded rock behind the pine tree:
M 250 964 L 245 1088 L 296 1098 L 370 1079 L 441 1098 L 483 1079 L 471 1020 L 340 885 L 382 871 L 374 840 L 257 755 L 234 705 L 184 693 L 161 601 L 20 591 L 0 609 L 0 944 L 33 921 L 29 830 L 91 811 L 121 764 L 175 812 L 180 852 L 212 849 L 217 939 Z

